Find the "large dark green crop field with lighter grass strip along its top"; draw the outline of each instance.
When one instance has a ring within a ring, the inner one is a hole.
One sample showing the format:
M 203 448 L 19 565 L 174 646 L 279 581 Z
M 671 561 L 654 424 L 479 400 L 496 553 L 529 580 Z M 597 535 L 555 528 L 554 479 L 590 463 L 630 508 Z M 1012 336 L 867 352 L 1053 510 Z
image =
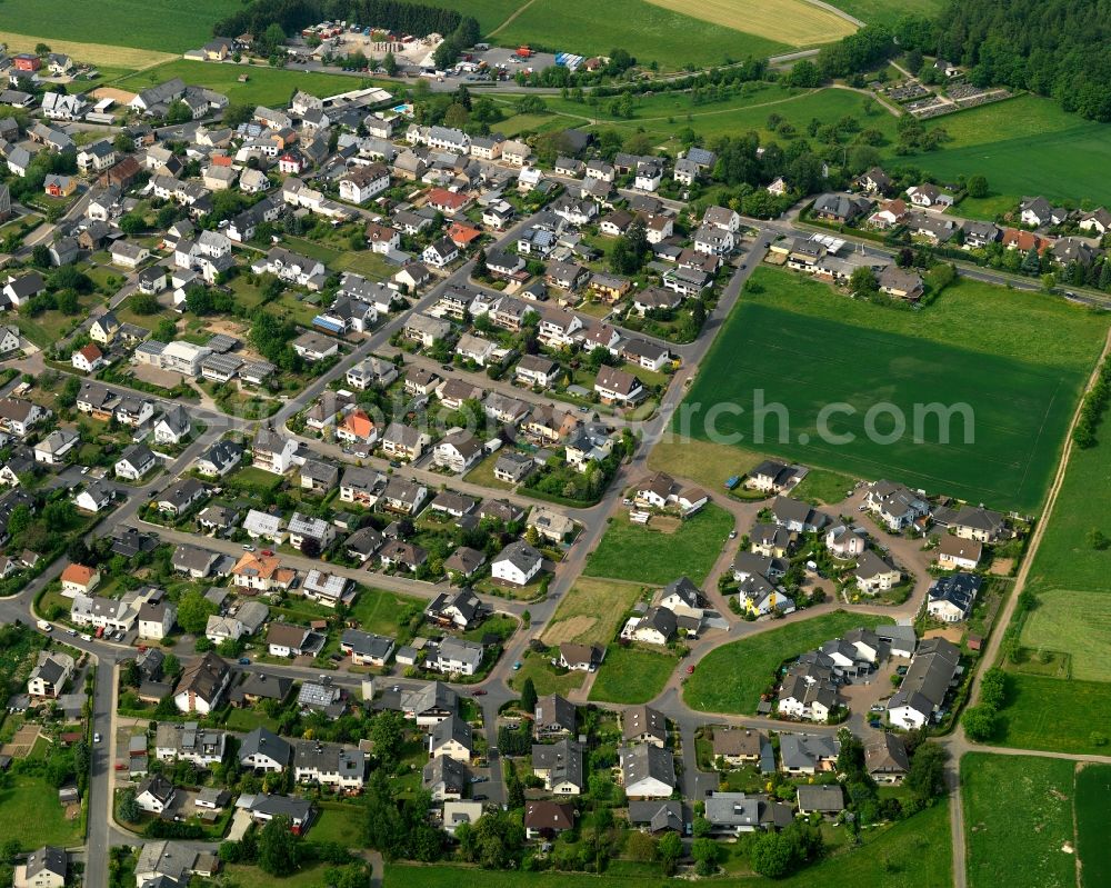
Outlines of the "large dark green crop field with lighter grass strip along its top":
M 1105 320 L 1059 300 L 978 282 L 962 281 L 912 312 L 760 268 L 687 397 L 688 412 L 702 405 L 688 431 L 702 440 L 732 436 L 808 466 L 1035 511 L 1105 330 Z M 764 405 L 785 407 L 788 428 L 783 411 L 755 421 L 758 393 Z M 952 419 L 949 443 L 940 442 L 938 416 L 918 407 L 939 402 L 971 409 L 971 421 L 968 410 Z M 744 412 L 719 415 L 715 430 L 698 421 L 719 403 Z M 879 403 L 901 411 L 905 433 L 892 439 L 894 420 L 884 410 L 869 439 L 865 416 Z M 822 441 L 818 420 L 829 405 L 848 407 L 824 417 L 830 433 Z M 755 440 L 761 431 L 763 441 Z M 832 442 L 843 435 L 854 438 Z

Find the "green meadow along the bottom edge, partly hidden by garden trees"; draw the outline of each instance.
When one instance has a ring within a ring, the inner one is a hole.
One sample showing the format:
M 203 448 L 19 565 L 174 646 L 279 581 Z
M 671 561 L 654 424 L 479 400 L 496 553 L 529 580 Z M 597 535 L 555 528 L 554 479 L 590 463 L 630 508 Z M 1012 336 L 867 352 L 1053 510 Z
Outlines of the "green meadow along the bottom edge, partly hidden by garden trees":
M 722 888 L 951 888 L 952 845 L 949 806 L 944 800 L 888 829 L 865 829 L 861 847 L 830 855 L 785 879 L 759 876 L 714 878 Z M 729 847 L 729 846 L 725 846 Z M 642 865 L 641 865 L 642 866 Z M 655 875 L 655 867 L 619 861 L 601 875 L 580 872 L 498 872 L 477 867 L 387 864 L 384 888 L 673 888 L 674 879 Z M 633 870 L 634 872 L 629 872 Z

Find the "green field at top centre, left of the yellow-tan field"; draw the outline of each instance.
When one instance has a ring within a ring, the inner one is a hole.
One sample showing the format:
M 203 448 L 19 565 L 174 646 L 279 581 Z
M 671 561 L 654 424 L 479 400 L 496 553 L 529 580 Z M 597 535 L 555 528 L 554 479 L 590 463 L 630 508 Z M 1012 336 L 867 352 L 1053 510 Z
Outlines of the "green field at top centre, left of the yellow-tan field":
M 784 43 L 700 21 L 643 0 L 611 0 L 601 16 L 592 0 L 533 0 L 498 32 L 497 39 L 503 46 L 527 43 L 580 56 L 608 56 L 620 47 L 641 63 L 659 62 L 662 70 L 789 51 Z

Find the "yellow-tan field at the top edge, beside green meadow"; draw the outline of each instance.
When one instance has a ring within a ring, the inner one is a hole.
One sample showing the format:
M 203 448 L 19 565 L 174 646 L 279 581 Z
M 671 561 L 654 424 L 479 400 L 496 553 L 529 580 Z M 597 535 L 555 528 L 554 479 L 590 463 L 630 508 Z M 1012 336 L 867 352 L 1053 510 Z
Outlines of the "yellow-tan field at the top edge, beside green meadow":
M 648 0 L 652 6 L 693 16 L 695 19 L 732 28 L 743 33 L 811 47 L 831 43 L 853 33 L 857 28 L 845 18 L 805 0 Z

